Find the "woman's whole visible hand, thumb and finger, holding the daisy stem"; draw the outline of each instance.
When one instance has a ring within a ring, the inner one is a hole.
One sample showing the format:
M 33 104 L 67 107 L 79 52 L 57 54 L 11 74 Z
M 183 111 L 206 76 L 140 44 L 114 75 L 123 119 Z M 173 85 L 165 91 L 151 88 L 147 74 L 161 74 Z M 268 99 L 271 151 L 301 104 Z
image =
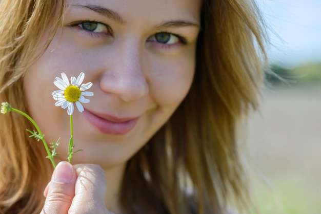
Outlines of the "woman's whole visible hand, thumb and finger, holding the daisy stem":
M 60 162 L 48 183 L 41 214 L 104 213 L 106 179 L 104 170 L 94 164 Z

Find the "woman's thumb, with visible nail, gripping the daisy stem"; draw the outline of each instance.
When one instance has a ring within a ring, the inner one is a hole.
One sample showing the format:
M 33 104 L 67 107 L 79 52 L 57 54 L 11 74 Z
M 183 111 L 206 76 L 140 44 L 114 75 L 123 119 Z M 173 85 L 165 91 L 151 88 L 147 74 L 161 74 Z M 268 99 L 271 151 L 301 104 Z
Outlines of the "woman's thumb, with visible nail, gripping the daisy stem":
M 75 182 L 76 172 L 73 166 L 66 161 L 59 162 L 45 190 L 47 197 L 41 214 L 68 213 L 75 196 Z

